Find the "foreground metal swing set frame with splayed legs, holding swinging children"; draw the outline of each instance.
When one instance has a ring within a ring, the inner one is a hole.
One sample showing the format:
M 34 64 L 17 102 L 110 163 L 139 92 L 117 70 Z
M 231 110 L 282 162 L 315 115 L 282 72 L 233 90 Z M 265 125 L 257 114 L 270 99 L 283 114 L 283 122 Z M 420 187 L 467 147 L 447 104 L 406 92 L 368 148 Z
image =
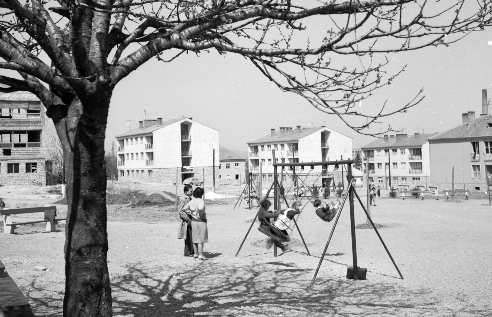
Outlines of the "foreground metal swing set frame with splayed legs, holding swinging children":
M 272 149 L 272 156 L 273 156 L 273 161 L 275 162 L 275 150 L 273 150 L 273 149 Z M 362 200 L 360 199 L 359 195 L 357 194 L 357 192 L 355 190 L 354 177 L 352 175 L 352 164 L 353 163 L 354 163 L 353 160 L 348 159 L 348 160 L 340 160 L 340 161 L 274 163 L 274 164 L 272 164 L 274 167 L 274 181 L 273 181 L 272 185 L 270 186 L 270 189 L 268 190 L 268 192 L 265 196 L 265 199 L 268 199 L 270 191 L 272 189 L 274 189 L 274 209 L 275 210 L 277 210 L 277 208 L 280 206 L 280 195 L 279 195 L 280 184 L 278 182 L 278 172 L 277 172 L 278 167 L 291 167 L 291 166 L 292 167 L 295 167 L 295 166 L 326 166 L 326 167 L 328 167 L 329 165 L 339 165 L 339 166 L 340 165 L 346 165 L 346 169 L 345 169 L 347 172 L 346 177 L 347 177 L 347 181 L 349 184 L 348 184 L 348 187 L 346 189 L 345 196 L 343 197 L 343 201 L 342 201 L 342 203 L 338 209 L 338 214 L 337 214 L 337 217 L 335 219 L 335 223 L 333 225 L 332 231 L 330 232 L 330 236 L 328 238 L 328 241 L 326 242 L 325 249 L 323 250 L 323 254 L 321 255 L 321 259 L 319 260 L 318 266 L 317 266 L 316 271 L 314 273 L 314 276 L 312 278 L 311 286 L 314 284 L 314 280 L 316 279 L 319 268 L 321 267 L 321 263 L 323 262 L 323 259 L 326 255 L 328 245 L 330 244 L 330 241 L 332 239 L 335 228 L 337 227 L 338 219 L 340 218 L 341 211 L 343 210 L 343 206 L 345 205 L 347 198 L 348 198 L 349 209 L 350 209 L 350 232 L 351 232 L 351 237 L 352 237 L 352 264 L 353 264 L 353 267 L 347 268 L 347 273 L 353 270 L 353 279 L 354 280 L 359 279 L 359 273 L 358 273 L 359 267 L 357 266 L 357 244 L 356 244 L 356 236 L 355 236 L 355 216 L 354 216 L 354 198 L 355 197 L 357 197 L 357 200 L 361 204 L 362 209 L 366 213 L 366 216 L 369 219 L 369 222 L 370 222 L 372 228 L 376 232 L 379 240 L 381 241 L 381 244 L 383 245 L 384 249 L 386 250 L 386 253 L 388 254 L 391 261 L 393 262 L 393 265 L 395 266 L 396 270 L 398 271 L 400 278 L 403 279 L 403 275 L 401 275 L 401 272 L 400 272 L 400 269 L 398 268 L 398 265 L 396 264 L 395 260 L 391 256 L 390 251 L 388 250 L 388 248 L 386 247 L 386 244 L 383 241 L 383 238 L 379 234 L 379 231 L 377 231 L 377 228 L 374 226 L 374 223 L 372 222 L 372 219 L 370 218 L 370 215 L 369 215 L 366 207 L 364 206 L 364 203 L 362 202 Z M 289 207 L 289 204 L 288 204 L 285 196 L 282 195 L 282 197 L 284 199 L 284 202 L 287 204 L 287 207 Z M 256 221 L 257 217 L 258 217 L 258 212 L 256 213 L 256 216 L 254 217 L 253 222 L 251 223 L 251 226 L 249 227 L 249 230 L 246 232 L 246 236 L 244 237 L 243 242 L 241 243 L 241 246 L 239 247 L 239 250 L 236 253 L 236 257 L 238 256 L 239 251 L 241 251 L 241 247 L 243 246 L 244 242 L 246 241 L 246 237 L 247 237 L 249 231 L 251 230 L 251 228 L 253 227 L 254 222 Z M 306 250 L 307 250 L 306 242 L 304 241 L 304 238 L 301 234 L 301 231 L 299 230 L 299 227 L 297 226 L 297 222 L 295 221 L 295 219 L 294 219 L 294 224 L 295 224 L 297 230 L 299 231 L 299 234 L 301 235 L 301 239 L 303 240 L 303 243 L 304 243 Z M 307 254 L 310 255 L 309 250 L 307 250 Z M 275 257 L 277 257 L 277 247 L 275 247 L 274 255 L 275 255 Z M 350 275 L 352 275 L 352 274 L 350 274 Z M 349 274 L 347 274 L 347 277 L 349 277 Z

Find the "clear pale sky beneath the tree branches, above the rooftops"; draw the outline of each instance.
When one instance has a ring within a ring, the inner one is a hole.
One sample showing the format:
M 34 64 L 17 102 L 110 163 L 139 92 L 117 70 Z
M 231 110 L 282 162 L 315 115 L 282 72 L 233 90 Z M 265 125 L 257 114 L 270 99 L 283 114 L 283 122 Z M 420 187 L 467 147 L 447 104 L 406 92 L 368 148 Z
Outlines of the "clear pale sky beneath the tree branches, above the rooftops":
M 492 29 L 468 35 L 450 47 L 430 47 L 387 55 L 388 73 L 407 69 L 394 84 L 376 90 L 363 101 L 375 112 L 387 101 L 390 109 L 408 103 L 421 87 L 424 100 L 406 114 L 386 117 L 371 131 L 388 124 L 406 133 L 443 132 L 461 124 L 461 113 L 480 115 L 481 89 L 492 87 Z M 379 56 L 376 58 L 383 58 Z M 144 118 L 193 117 L 220 131 L 220 145 L 246 150 L 246 142 L 279 127 L 325 125 L 353 138 L 353 147 L 375 140 L 348 129 L 337 117 L 314 109 L 303 98 L 280 91 L 245 58 L 215 50 L 200 57 L 189 53 L 173 62 L 155 59 L 123 79 L 114 91 L 109 112 L 106 148 L 114 136 L 138 126 Z M 127 121 L 134 120 L 134 121 Z M 129 123 L 130 122 L 130 123 Z

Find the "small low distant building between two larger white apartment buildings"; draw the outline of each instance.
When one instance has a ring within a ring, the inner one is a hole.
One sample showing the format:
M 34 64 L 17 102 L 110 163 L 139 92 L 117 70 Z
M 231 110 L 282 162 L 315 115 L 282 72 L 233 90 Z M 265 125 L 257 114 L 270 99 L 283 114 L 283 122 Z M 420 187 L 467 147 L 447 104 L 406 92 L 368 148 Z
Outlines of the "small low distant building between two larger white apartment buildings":
M 219 181 L 238 183 L 246 181 L 246 151 L 234 151 L 220 147 Z

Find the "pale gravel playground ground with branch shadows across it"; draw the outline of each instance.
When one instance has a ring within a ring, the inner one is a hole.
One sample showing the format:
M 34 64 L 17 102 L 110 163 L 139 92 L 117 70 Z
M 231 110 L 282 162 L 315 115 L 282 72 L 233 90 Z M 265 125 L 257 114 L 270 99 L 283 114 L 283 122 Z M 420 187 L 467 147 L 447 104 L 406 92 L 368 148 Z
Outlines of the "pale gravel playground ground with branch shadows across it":
M 227 188 L 220 190 L 225 194 Z M 59 199 L 43 187 L 3 186 L 0 197 L 13 208 Z M 352 266 L 345 207 L 312 287 L 333 222 L 322 222 L 307 205 L 298 224 L 311 255 L 294 232 L 291 249 L 279 251 L 277 258 L 273 249 L 265 248 L 256 223 L 235 257 L 256 213 L 244 203 L 232 210 L 236 200 L 237 196 L 207 201 L 208 261 L 183 257 L 172 206 L 108 206 L 114 316 L 491 315 L 492 207 L 484 205 L 488 200 L 378 200 L 372 218 L 384 226 L 379 231 L 404 280 L 372 229 L 356 231 L 358 263 L 368 269 L 367 280 L 345 278 Z M 362 208 L 355 206 L 355 223 L 365 223 Z M 59 210 L 63 214 L 62 205 Z M 62 316 L 64 228 L 51 233 L 42 229 L 24 226 L 19 234 L 1 233 L 0 259 L 35 316 Z M 49 271 L 34 271 L 38 265 Z

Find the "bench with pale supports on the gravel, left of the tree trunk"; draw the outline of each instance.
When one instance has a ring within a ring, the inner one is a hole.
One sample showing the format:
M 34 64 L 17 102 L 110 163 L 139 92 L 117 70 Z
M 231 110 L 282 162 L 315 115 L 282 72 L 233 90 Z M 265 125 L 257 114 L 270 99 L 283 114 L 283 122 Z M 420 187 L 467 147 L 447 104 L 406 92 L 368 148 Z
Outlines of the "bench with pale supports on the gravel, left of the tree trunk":
M 43 220 L 26 221 L 26 222 L 12 222 L 10 217 L 12 215 L 34 213 L 34 212 L 44 212 Z M 44 206 L 44 207 L 32 207 L 32 208 L 17 208 L 17 209 L 0 209 L 0 215 L 3 216 L 3 233 L 13 234 L 17 226 L 46 223 L 46 231 L 53 232 L 56 231 L 56 224 L 60 220 L 65 220 L 65 218 L 56 219 L 57 207 L 56 206 Z

